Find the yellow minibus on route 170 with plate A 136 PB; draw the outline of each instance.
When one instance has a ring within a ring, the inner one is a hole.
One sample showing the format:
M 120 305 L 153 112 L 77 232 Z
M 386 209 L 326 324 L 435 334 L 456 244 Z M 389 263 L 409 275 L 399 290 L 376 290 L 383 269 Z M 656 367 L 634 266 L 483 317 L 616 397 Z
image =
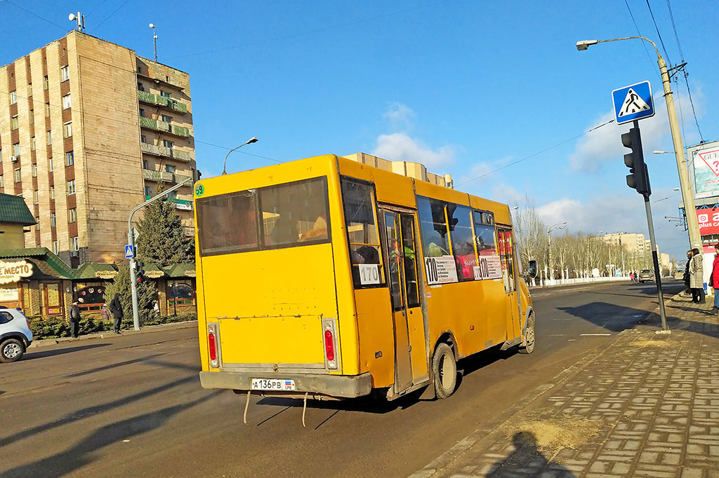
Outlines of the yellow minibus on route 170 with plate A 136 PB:
M 334 155 L 202 179 L 194 205 L 204 388 L 446 398 L 462 357 L 534 348 L 507 205 Z

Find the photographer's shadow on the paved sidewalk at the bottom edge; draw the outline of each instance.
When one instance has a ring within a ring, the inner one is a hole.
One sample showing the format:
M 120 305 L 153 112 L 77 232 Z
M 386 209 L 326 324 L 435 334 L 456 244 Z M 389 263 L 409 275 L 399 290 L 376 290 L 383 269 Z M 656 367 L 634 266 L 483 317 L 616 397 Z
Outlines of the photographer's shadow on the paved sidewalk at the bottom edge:
M 536 437 L 528 431 L 519 431 L 512 437 L 514 451 L 505 459 L 495 462 L 485 474 L 486 478 L 553 477 L 576 478 L 569 469 L 546 458 L 537 449 Z

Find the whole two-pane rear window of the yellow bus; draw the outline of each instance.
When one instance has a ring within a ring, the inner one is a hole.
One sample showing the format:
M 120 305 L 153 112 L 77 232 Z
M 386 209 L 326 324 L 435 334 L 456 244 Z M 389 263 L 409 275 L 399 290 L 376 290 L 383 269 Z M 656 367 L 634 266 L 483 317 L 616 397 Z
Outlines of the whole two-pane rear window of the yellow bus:
M 326 177 L 199 199 L 200 256 L 328 242 L 328 209 Z

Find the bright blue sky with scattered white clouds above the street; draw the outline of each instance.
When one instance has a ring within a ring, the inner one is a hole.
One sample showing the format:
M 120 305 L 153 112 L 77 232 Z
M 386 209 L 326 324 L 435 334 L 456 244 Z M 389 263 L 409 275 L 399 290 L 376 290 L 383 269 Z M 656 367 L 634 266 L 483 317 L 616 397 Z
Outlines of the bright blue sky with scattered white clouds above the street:
M 667 2 L 649 3 L 677 64 Z M 569 230 L 588 233 L 646 233 L 641 196 L 624 179 L 619 136 L 628 126 L 582 133 L 612 118 L 613 89 L 650 80 L 657 114 L 641 128 L 656 233 L 661 251 L 682 258 L 687 235 L 664 220 L 677 215 L 676 161 L 649 154 L 673 149 L 654 50 L 640 40 L 574 47 L 636 35 L 638 27 L 664 55 L 646 0 L 627 4 L 0 0 L 0 64 L 62 37 L 78 9 L 87 33 L 152 57 L 153 22 L 158 60 L 190 74 L 205 176 L 221 172 L 226 154 L 211 144 L 232 148 L 252 136 L 260 141 L 233 153 L 229 171 L 365 151 L 423 162 L 477 195 L 520 205 L 530 197 L 547 222 L 567 220 Z M 719 139 L 719 3 L 671 5 L 702 136 Z M 672 89 L 684 144 L 696 144 L 687 87 L 680 80 Z

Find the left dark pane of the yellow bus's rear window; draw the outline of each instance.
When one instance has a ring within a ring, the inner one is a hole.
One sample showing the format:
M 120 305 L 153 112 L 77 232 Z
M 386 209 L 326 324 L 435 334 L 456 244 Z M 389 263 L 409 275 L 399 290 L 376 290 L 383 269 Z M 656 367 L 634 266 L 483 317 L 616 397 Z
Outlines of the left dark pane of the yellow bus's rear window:
M 234 192 L 197 202 L 202 256 L 257 248 L 257 194 Z

